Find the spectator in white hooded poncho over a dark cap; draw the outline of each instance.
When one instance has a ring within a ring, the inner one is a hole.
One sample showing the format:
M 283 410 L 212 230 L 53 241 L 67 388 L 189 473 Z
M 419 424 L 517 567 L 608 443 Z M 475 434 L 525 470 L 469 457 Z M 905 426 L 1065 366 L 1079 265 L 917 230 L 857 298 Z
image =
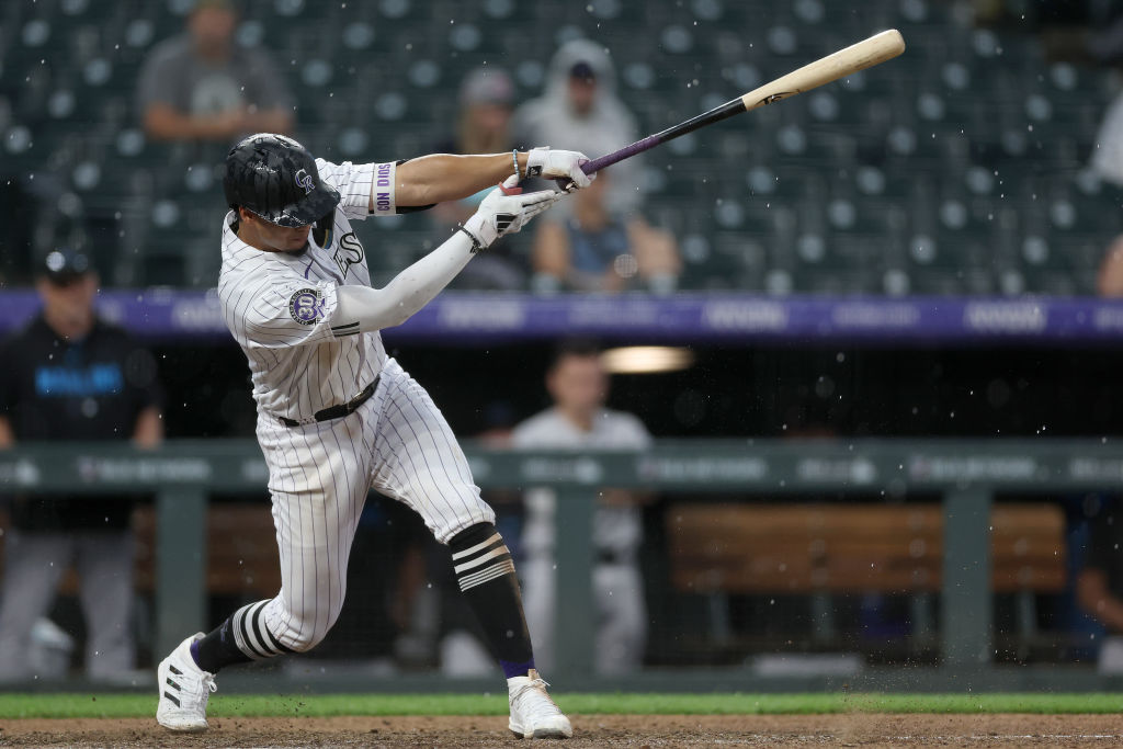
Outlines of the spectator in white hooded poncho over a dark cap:
M 600 156 L 639 139 L 636 118 L 617 95 L 617 73 L 603 45 L 574 39 L 563 45 L 550 62 L 546 90 L 520 106 L 512 120 L 519 147 L 549 145 L 575 148 Z M 613 167 L 614 188 L 605 194 L 615 216 L 626 216 L 642 203 L 642 157 Z M 566 212 L 560 203 L 551 220 Z

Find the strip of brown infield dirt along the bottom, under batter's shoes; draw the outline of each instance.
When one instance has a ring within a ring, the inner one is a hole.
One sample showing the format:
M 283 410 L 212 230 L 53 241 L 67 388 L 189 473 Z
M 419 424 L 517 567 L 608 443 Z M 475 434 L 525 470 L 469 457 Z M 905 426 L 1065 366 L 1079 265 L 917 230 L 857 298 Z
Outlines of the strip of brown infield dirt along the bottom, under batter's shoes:
M 1123 746 L 1115 715 L 574 715 L 584 747 Z M 203 734 L 154 720 L 0 723 L 4 747 L 511 747 L 503 718 L 227 718 Z

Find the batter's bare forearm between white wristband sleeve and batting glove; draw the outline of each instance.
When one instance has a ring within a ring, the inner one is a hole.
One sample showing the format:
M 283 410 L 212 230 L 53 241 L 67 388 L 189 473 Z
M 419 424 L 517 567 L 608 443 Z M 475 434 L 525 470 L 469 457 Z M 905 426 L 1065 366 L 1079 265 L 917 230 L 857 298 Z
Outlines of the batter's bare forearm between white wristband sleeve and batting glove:
M 520 153 L 519 172 L 527 173 L 527 154 Z M 432 154 L 413 158 L 398 167 L 395 188 L 399 205 L 431 205 L 462 200 L 494 186 L 514 174 L 510 153 L 486 156 Z

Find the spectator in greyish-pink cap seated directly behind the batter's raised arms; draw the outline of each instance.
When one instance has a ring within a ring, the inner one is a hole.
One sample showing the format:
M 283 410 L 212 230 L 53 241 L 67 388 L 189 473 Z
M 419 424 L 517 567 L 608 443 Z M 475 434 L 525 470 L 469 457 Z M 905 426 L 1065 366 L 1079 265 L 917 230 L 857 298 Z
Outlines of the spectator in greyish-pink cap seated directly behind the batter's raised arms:
M 487 65 L 473 70 L 460 82 L 456 131 L 435 144 L 437 154 L 495 154 L 514 148 L 510 134 L 514 102 L 514 82 L 502 67 Z M 437 204 L 430 217 L 442 229 L 453 229 L 476 212 L 490 192 L 459 201 Z M 478 255 L 453 281 L 457 289 L 510 291 L 527 283 L 526 262 L 520 259 L 520 237 L 512 236 L 502 246 Z

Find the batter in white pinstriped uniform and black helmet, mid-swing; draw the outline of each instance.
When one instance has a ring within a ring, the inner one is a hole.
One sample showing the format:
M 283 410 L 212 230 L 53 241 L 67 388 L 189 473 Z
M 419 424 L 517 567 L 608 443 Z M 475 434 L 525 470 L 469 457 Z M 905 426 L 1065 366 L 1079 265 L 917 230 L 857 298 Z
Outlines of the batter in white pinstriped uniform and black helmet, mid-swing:
M 186 638 L 157 670 L 156 720 L 207 728 L 225 666 L 302 652 L 339 615 L 347 557 L 368 490 L 414 510 L 447 544 L 457 581 L 506 675 L 511 730 L 572 734 L 535 669 L 514 565 L 468 465 L 429 394 L 386 355 L 378 331 L 420 310 L 499 237 L 565 193 L 519 194 L 526 176 L 590 184 L 584 155 L 535 148 L 332 164 L 280 135 L 230 150 L 219 301 L 249 360 L 257 440 L 270 467 L 281 591 Z M 350 221 L 459 200 L 504 181 L 442 245 L 371 287 Z

